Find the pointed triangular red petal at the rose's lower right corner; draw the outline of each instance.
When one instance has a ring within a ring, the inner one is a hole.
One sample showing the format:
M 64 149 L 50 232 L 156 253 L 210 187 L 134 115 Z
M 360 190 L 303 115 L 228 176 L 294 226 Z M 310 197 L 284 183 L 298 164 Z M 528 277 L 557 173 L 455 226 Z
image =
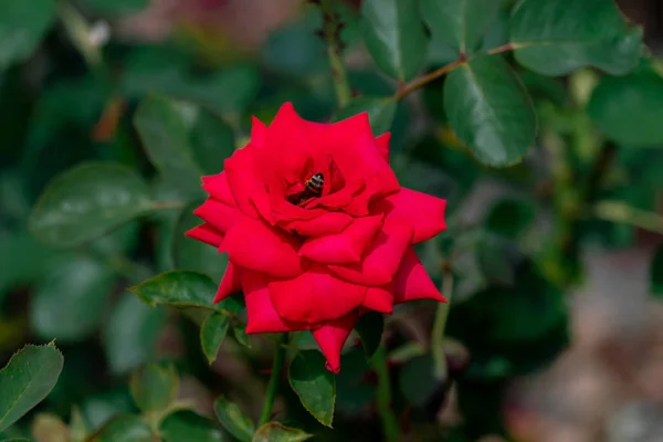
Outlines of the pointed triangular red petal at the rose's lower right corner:
M 408 248 L 396 273 L 394 304 L 414 299 L 435 299 L 445 303 L 431 281 L 413 248 Z

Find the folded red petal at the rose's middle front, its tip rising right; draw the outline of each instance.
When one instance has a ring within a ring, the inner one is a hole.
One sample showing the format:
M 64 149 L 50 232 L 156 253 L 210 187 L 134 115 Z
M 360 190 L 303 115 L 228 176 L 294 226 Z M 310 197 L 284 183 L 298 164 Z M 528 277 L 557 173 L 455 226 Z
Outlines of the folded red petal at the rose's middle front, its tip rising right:
M 304 241 L 299 254 L 325 264 L 358 262 L 382 227 L 382 215 L 358 218 L 343 232 Z

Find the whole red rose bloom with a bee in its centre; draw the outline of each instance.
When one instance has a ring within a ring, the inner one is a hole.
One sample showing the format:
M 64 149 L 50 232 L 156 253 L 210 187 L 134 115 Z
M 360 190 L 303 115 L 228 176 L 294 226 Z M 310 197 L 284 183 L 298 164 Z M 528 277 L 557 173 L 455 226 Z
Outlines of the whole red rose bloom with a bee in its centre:
M 204 223 L 187 235 L 228 253 L 214 302 L 243 292 L 248 334 L 311 330 L 338 372 L 362 313 L 445 302 L 412 244 L 445 229 L 446 201 L 399 186 L 389 137 L 373 137 L 366 113 L 320 124 L 286 103 L 202 178 Z

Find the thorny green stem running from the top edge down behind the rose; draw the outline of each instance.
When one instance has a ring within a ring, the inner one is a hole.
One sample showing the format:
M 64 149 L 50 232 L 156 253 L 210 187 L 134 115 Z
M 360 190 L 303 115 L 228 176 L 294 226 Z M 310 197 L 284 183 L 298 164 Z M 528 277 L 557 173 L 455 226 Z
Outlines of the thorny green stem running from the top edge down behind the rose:
M 323 38 L 327 43 L 332 81 L 334 82 L 334 88 L 336 90 L 338 105 L 339 107 L 344 107 L 350 102 L 351 93 L 340 53 L 340 30 L 343 23 L 338 22 L 337 15 L 334 14 L 332 0 L 319 0 L 317 1 L 317 4 L 323 12 Z

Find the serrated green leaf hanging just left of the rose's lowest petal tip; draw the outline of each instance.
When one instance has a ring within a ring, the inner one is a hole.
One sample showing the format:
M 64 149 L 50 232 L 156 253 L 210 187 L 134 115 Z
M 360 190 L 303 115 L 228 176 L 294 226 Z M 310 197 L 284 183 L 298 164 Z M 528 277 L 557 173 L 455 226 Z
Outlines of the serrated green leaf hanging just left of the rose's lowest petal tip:
M 299 351 L 290 365 L 288 381 L 304 408 L 323 425 L 332 427 L 336 379 L 325 362 L 317 350 Z

